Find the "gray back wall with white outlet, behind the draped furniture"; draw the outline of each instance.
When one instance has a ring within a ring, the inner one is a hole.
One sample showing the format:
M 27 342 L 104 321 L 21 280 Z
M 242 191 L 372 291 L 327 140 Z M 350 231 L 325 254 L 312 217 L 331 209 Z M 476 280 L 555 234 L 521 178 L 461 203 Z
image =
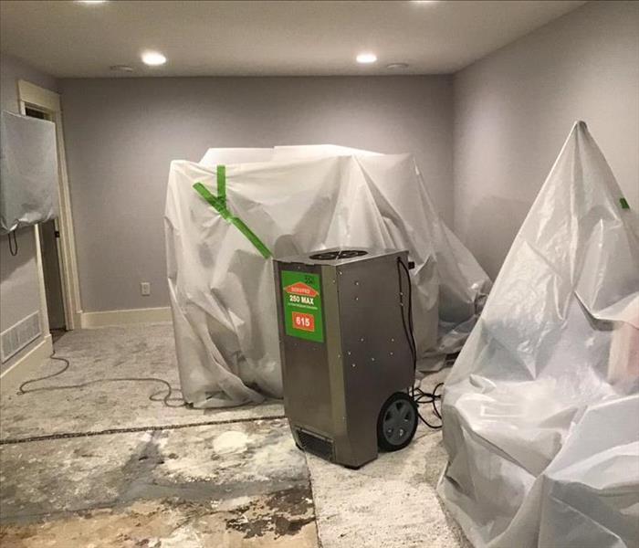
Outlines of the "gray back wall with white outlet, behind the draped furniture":
M 453 217 L 452 77 L 62 79 L 84 311 L 167 306 L 169 163 L 207 148 L 335 143 L 414 153 Z M 141 297 L 140 281 L 152 282 Z

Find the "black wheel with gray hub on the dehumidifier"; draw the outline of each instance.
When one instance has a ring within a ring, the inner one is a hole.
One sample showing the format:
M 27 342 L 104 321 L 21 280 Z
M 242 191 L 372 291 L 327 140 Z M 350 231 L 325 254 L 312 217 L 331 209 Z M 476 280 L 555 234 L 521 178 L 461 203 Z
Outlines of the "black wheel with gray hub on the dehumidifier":
M 413 399 L 395 392 L 382 406 L 377 418 L 377 445 L 383 451 L 405 448 L 417 429 L 417 409 Z

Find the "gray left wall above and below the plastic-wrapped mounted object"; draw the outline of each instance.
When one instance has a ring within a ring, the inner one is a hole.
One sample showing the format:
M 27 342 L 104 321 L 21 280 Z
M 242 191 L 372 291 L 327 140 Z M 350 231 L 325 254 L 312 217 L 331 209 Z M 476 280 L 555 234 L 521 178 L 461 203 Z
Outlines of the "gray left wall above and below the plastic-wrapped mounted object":
M 47 90 L 57 90 L 55 79 L 22 61 L 0 54 L 0 103 L 2 110 L 19 112 L 17 80 L 25 79 Z M 9 253 L 6 236 L 0 239 L 0 331 L 40 310 L 34 228 L 16 232 L 19 252 Z

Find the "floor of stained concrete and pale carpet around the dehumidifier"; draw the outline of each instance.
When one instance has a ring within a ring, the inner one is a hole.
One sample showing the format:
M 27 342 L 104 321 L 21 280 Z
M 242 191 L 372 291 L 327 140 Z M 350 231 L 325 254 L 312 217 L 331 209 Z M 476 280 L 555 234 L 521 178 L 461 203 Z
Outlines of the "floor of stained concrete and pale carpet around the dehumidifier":
M 69 332 L 56 352 L 71 366 L 47 385 L 112 376 L 177 385 L 170 324 Z M 435 495 L 439 432 L 420 427 L 403 451 L 344 469 L 295 447 L 279 402 L 167 408 L 149 400 L 159 385 L 131 383 L 16 394 L 60 366 L 14 370 L 1 383 L 3 548 L 470 546 Z

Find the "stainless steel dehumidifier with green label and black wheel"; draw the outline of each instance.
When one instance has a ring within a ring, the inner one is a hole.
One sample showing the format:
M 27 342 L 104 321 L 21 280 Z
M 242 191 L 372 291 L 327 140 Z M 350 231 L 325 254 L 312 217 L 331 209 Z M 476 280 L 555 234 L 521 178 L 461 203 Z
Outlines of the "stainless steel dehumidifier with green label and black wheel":
M 275 260 L 284 406 L 299 448 L 347 467 L 408 445 L 417 410 L 406 251 Z

